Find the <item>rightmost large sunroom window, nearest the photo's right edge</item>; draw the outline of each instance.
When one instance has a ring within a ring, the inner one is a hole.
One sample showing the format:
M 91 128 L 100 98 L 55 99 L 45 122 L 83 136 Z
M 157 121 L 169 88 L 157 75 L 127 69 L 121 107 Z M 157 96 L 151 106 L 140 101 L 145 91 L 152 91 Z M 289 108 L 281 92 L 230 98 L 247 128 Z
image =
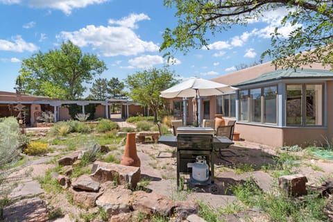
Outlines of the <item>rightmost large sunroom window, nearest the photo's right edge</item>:
M 323 125 L 323 84 L 287 85 L 287 125 Z

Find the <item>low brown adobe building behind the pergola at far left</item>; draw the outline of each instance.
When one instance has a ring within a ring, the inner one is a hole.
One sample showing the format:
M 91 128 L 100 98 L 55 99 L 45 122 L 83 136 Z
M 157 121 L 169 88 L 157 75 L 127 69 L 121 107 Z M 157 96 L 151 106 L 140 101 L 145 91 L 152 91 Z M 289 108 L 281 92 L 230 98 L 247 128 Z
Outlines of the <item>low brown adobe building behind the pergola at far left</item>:
M 110 118 L 110 106 L 112 104 L 121 104 L 121 117 L 127 118 L 135 114 L 146 114 L 146 110 L 133 101 L 126 99 L 109 99 L 106 101 L 60 101 L 50 99 L 44 96 L 31 96 L 27 94 L 17 94 L 15 92 L 0 91 L 0 117 L 17 117 L 19 111 L 17 105 L 24 106 L 24 123 L 27 126 L 33 126 L 37 123 L 37 117 L 41 112 L 51 111 L 55 114 L 55 121 L 66 121 L 71 119 L 67 104 L 81 105 L 82 113 L 85 113 L 85 105 L 96 104 L 94 119 Z

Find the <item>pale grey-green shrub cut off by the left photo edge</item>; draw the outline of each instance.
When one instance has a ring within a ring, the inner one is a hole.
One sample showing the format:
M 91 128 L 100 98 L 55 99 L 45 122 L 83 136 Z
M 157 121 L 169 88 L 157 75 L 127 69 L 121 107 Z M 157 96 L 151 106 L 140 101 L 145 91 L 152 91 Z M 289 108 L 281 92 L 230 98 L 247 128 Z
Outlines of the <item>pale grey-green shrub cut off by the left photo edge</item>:
M 17 160 L 24 136 L 15 117 L 0 118 L 0 169 Z

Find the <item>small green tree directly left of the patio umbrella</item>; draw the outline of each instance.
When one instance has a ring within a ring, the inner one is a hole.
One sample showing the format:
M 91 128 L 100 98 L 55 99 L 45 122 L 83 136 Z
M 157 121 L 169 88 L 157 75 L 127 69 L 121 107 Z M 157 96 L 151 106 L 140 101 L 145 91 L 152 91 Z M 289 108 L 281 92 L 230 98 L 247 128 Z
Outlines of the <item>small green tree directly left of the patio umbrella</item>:
M 164 99 L 160 92 L 177 83 L 173 79 L 175 74 L 168 69 L 149 69 L 138 71 L 133 76 L 128 76 L 126 83 L 130 89 L 129 96 L 133 101 L 141 105 L 148 106 L 154 114 L 154 120 L 157 122 L 157 111 L 162 107 Z

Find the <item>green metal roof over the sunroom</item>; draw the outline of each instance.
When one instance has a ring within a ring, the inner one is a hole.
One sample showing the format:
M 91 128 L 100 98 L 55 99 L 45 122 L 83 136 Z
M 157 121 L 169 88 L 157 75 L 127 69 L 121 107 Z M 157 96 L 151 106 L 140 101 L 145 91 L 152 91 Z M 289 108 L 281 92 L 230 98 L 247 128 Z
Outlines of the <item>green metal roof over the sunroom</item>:
M 266 72 L 257 78 L 253 78 L 251 80 L 247 80 L 232 86 L 239 87 L 242 85 L 250 85 L 254 83 L 262 83 L 271 80 L 282 80 L 288 78 L 333 78 L 333 72 L 323 69 L 279 69 Z

